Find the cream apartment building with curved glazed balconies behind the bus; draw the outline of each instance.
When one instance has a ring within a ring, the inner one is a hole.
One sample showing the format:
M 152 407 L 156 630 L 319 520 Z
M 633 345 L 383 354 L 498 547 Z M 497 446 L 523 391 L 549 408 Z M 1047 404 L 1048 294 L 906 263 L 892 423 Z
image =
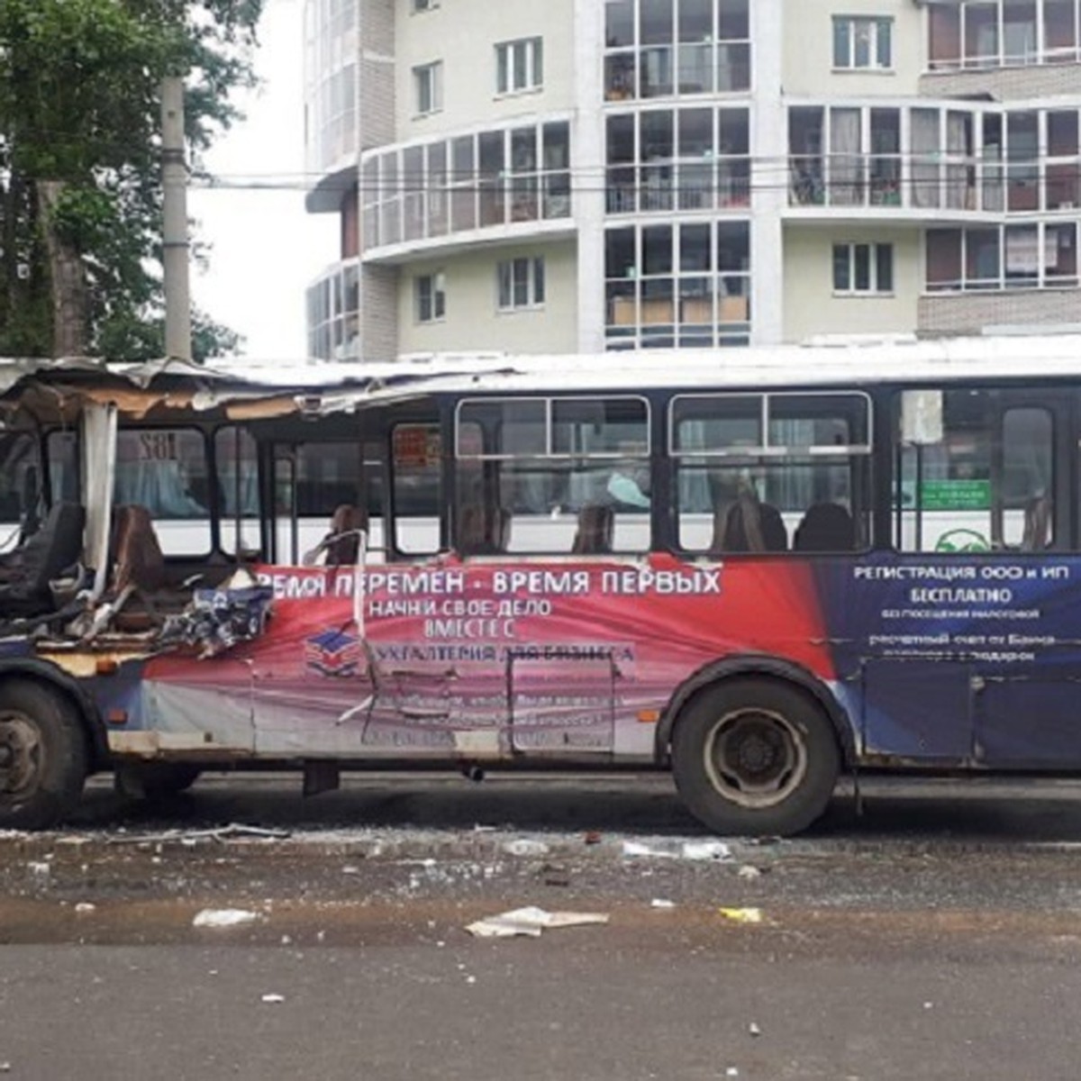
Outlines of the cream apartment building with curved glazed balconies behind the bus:
M 1081 0 L 307 0 L 310 351 L 1081 324 Z

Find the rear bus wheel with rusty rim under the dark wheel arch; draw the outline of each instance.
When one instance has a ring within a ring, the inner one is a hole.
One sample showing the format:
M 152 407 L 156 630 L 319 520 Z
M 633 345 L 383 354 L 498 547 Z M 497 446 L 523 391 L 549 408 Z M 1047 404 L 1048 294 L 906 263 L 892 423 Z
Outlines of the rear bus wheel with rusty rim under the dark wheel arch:
M 705 688 L 672 737 L 680 798 L 711 830 L 785 836 L 826 810 L 841 755 L 825 711 L 782 680 L 743 677 Z

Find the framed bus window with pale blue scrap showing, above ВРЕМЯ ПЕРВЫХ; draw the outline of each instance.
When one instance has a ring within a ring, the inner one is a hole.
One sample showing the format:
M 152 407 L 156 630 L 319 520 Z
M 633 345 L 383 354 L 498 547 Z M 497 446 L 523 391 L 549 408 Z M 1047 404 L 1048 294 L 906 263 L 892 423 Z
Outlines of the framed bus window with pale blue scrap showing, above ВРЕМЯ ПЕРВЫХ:
M 642 399 L 466 401 L 456 450 L 455 545 L 463 555 L 649 550 Z

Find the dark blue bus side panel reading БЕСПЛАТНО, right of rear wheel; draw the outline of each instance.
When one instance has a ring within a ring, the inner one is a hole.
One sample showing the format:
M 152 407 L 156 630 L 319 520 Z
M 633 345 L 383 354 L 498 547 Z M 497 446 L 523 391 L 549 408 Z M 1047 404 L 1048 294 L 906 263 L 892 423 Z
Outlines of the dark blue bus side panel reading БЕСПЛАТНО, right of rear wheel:
M 866 761 L 1081 766 L 1081 560 L 876 555 L 815 574 Z

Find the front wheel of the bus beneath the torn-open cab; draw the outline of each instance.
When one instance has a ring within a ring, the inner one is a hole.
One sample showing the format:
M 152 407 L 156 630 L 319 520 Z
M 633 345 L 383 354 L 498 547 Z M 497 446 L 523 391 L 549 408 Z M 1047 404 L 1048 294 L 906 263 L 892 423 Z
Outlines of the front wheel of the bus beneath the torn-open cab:
M 69 702 L 32 680 L 0 684 L 0 828 L 55 826 L 78 804 L 88 770 Z

